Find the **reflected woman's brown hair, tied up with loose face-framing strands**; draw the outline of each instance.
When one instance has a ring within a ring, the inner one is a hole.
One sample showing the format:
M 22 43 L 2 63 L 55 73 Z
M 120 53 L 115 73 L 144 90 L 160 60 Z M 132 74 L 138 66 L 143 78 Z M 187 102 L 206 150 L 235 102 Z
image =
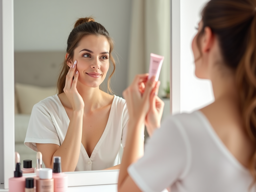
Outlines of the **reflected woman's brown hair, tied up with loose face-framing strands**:
M 71 31 L 71 33 L 68 36 L 68 42 L 67 42 L 68 57 L 63 62 L 63 66 L 62 66 L 62 69 L 61 69 L 61 72 L 60 72 L 60 75 L 58 78 L 58 83 L 57 83 L 59 94 L 64 92 L 63 89 L 65 87 L 66 75 L 69 70 L 67 61 L 73 59 L 74 49 L 78 47 L 80 40 L 82 39 L 82 37 L 84 37 L 86 35 L 97 35 L 97 36 L 103 35 L 109 41 L 109 46 L 110 46 L 109 58 L 113 65 L 113 71 L 108 78 L 108 92 L 110 92 L 112 94 L 112 90 L 110 87 L 110 79 L 115 72 L 115 60 L 114 60 L 113 56 L 111 55 L 111 52 L 113 51 L 114 42 L 111 39 L 111 37 L 109 36 L 108 31 L 101 24 L 95 22 L 92 17 L 78 19 L 74 25 L 73 30 Z M 111 70 L 111 66 L 110 66 L 110 70 Z

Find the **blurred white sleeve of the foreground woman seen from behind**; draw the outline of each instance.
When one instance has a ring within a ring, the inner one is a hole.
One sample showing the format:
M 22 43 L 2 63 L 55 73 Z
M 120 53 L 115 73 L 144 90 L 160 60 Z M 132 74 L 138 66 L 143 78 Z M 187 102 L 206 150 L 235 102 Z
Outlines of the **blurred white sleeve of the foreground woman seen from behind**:
M 144 156 L 128 167 L 128 173 L 142 191 L 162 191 L 186 172 L 188 147 L 184 128 L 170 117 L 154 132 Z

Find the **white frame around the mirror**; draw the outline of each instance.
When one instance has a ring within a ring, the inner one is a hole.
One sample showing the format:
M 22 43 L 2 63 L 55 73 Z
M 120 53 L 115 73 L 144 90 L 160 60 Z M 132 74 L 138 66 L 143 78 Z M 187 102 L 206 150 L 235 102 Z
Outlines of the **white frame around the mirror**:
M 180 113 L 180 0 L 170 0 L 170 113 Z M 4 189 L 14 168 L 13 0 L 2 0 Z M 172 20 L 175 18 L 175 20 Z M 1 55 L 0 55 L 1 56 Z M 8 65 L 4 65 L 7 64 Z M 1 64 L 0 64 L 1 65 Z M 2 102 L 2 101 L 1 101 Z M 12 153 L 11 153 L 12 152 Z M 67 172 L 68 186 L 117 184 L 119 170 Z M 26 174 L 35 176 L 35 174 Z M 82 178 L 82 179 L 81 179 Z

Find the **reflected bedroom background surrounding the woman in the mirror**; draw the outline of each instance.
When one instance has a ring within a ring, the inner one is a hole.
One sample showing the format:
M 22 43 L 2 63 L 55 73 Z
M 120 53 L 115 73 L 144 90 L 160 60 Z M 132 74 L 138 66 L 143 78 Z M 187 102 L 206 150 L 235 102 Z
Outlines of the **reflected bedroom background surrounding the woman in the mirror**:
M 119 62 L 111 84 L 119 97 L 135 74 L 148 71 L 150 52 L 165 56 L 159 96 L 165 102 L 163 118 L 170 114 L 169 7 L 169 1 L 158 5 L 157 1 L 141 4 L 131 0 L 14 0 L 15 151 L 22 165 L 23 160 L 31 159 L 36 167 L 36 152 L 24 145 L 31 110 L 35 103 L 56 93 L 67 38 L 78 18 L 93 16 L 113 38 L 113 56 Z M 163 22 L 157 27 L 152 25 L 156 14 Z M 145 142 L 146 138 L 147 133 Z

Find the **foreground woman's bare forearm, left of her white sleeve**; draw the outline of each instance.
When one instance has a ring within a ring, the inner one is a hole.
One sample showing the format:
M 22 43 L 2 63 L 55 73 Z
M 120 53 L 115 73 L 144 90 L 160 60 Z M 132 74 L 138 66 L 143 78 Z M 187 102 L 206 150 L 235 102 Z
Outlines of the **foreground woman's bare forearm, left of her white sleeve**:
M 141 127 L 143 125 L 143 118 L 134 121 L 130 119 L 129 121 L 126 144 L 118 179 L 118 190 L 122 188 L 122 184 L 128 176 L 127 168 L 143 156 L 144 146 L 141 144 Z

